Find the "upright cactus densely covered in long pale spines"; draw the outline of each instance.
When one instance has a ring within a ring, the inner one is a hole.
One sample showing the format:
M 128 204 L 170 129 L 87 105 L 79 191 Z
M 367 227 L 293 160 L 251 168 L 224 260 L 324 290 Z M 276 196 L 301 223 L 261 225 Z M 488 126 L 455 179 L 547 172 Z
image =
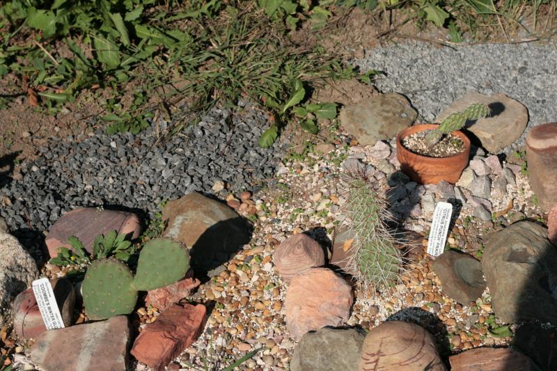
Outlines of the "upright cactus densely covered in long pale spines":
M 352 244 L 346 251 L 347 271 L 363 290 L 393 286 L 403 274 L 403 258 L 397 240 L 386 225 L 392 219 L 384 187 L 369 174 L 352 173 L 343 179 L 345 214 L 350 219 Z

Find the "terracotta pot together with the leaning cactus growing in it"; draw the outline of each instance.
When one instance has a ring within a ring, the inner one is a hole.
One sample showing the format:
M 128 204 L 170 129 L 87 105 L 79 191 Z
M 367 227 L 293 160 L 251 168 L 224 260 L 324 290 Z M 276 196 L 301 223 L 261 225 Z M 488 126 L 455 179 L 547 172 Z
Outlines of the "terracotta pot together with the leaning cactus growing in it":
M 476 103 L 463 112 L 450 114 L 440 125 L 414 125 L 402 130 L 396 138 L 400 169 L 421 184 L 437 184 L 441 180 L 455 184 L 470 155 L 470 140 L 460 129 L 488 115 L 489 108 Z

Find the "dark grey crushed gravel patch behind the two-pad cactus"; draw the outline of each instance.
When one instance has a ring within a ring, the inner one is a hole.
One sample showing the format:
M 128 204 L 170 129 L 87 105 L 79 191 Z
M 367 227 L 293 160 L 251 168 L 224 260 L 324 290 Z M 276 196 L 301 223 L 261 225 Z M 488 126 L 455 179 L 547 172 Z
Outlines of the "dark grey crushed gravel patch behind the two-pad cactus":
M 21 180 L 0 189 L 0 197 L 12 203 L 0 216 L 10 230 L 44 231 L 79 206 L 152 216 L 165 198 L 213 193 L 217 180 L 235 191 L 253 191 L 274 175 L 283 152 L 278 141 L 272 148 L 258 146 L 269 125 L 265 113 L 246 108 L 232 120 L 230 115 L 229 110 L 213 109 L 201 123 L 162 145 L 155 144 L 155 127 L 136 136 L 97 130 L 84 140 L 55 137 L 40 148 L 40 157 L 22 164 Z

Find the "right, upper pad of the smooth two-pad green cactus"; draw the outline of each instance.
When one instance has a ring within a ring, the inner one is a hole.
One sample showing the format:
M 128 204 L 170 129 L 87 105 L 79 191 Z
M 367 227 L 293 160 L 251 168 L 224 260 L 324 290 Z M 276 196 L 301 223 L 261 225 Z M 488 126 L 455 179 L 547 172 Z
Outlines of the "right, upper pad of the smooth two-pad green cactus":
M 168 238 L 151 239 L 141 249 L 134 286 L 154 290 L 181 280 L 189 269 L 189 253 L 180 242 Z

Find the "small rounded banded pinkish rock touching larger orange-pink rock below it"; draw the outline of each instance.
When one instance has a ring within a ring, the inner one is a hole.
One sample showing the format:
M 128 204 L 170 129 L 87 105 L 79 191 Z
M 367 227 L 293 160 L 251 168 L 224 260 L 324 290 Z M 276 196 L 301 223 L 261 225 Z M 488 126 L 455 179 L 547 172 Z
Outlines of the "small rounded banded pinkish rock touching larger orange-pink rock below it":
M 273 263 L 281 278 L 287 283 L 310 268 L 325 264 L 320 244 L 304 233 L 285 239 L 273 254 Z

